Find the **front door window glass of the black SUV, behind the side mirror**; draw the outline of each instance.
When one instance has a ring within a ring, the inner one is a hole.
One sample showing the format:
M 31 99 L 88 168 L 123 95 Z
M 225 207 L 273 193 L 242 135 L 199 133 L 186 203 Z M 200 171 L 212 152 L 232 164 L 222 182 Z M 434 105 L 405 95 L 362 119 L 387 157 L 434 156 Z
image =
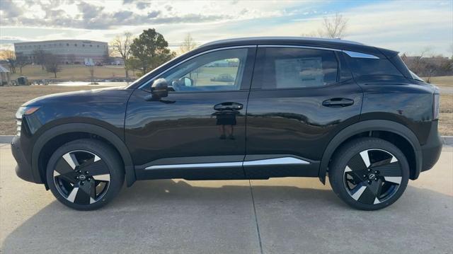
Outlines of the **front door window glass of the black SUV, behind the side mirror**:
M 247 53 L 248 49 L 241 48 L 202 54 L 159 78 L 166 79 L 176 92 L 239 90 Z

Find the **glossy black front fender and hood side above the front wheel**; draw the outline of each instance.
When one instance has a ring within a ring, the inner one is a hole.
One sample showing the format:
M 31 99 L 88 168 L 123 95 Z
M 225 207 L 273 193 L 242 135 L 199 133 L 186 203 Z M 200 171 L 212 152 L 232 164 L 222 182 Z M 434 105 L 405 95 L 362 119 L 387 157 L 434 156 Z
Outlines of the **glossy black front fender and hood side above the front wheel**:
M 21 144 L 28 154 L 26 160 L 32 163 L 31 154 L 38 138 L 59 125 L 86 123 L 98 125 L 124 139 L 124 118 L 132 90 L 108 89 L 59 93 L 31 100 L 25 105 L 40 105 L 33 115 L 25 116 L 21 134 Z M 84 132 L 84 129 L 80 129 Z

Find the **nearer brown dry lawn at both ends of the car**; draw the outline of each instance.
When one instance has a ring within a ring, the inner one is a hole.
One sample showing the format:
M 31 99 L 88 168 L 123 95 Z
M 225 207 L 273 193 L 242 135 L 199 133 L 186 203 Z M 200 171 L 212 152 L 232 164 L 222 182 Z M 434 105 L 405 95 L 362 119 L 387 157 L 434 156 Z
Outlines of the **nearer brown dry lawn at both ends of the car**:
M 93 86 L 0 86 L 0 134 L 15 133 L 16 110 L 28 100 L 51 93 L 90 90 Z M 453 94 L 440 96 L 440 134 L 453 135 Z

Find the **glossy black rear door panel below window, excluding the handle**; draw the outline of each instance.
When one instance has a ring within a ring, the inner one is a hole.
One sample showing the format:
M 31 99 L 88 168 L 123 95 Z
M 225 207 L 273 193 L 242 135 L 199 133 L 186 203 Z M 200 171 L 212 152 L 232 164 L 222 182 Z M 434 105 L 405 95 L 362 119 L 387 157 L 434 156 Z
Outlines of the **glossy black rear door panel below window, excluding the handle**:
M 328 108 L 323 100 L 354 104 Z M 321 88 L 251 91 L 247 110 L 247 154 L 294 154 L 319 161 L 333 134 L 359 120 L 362 90 L 353 80 Z

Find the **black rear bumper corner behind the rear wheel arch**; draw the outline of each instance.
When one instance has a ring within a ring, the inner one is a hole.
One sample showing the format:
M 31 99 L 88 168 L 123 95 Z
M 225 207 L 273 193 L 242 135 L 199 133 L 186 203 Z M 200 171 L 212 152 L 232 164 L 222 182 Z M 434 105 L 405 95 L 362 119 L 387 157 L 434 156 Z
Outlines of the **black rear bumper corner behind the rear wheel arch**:
M 432 122 L 431 131 L 428 139 L 423 146 L 421 146 L 422 165 L 421 171 L 428 171 L 439 160 L 440 153 L 442 152 L 442 140 L 440 139 L 439 132 L 437 132 L 438 121 Z

